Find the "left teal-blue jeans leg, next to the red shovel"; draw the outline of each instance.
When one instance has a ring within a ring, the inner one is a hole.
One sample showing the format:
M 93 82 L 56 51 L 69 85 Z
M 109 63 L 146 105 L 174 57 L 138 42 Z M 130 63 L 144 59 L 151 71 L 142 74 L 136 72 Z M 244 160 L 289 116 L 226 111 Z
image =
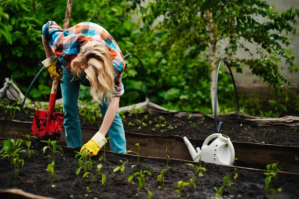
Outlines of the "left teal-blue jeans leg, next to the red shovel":
M 63 68 L 63 77 L 61 84 L 66 144 L 70 147 L 82 146 L 81 126 L 79 120 L 78 95 L 80 83 L 72 81 L 73 76 L 67 73 Z

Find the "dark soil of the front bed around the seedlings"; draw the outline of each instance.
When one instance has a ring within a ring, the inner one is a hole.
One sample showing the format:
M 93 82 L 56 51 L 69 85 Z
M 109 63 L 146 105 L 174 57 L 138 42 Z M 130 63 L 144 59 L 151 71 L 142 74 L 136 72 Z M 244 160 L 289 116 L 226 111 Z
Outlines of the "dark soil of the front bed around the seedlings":
M 24 153 L 21 158 L 24 159 L 24 167 L 19 170 L 19 178 L 14 179 L 14 167 L 8 159 L 0 159 L 0 189 L 22 189 L 25 192 L 53 197 L 57 199 L 131 199 L 136 197 L 138 191 L 138 180 L 134 179 L 133 183 L 128 183 L 127 179 L 130 175 L 140 170 L 148 170 L 151 176 L 146 176 L 147 181 L 145 186 L 153 194 L 153 199 L 173 199 L 177 198 L 175 192 L 176 183 L 180 180 L 189 182 L 194 176 L 194 169 L 182 163 L 175 163 L 170 159 L 170 170 L 164 174 L 166 189 L 158 189 L 160 183 L 157 181 L 158 174 L 162 169 L 166 168 L 165 160 L 156 160 L 149 158 L 141 158 L 138 166 L 134 168 L 131 165 L 136 165 L 137 158 L 125 154 L 116 154 L 107 152 L 106 161 L 100 162 L 98 156 L 93 157 L 95 165 L 102 163 L 102 172 L 107 176 L 105 186 L 101 184 L 101 177 L 97 177 L 94 181 L 91 192 L 86 192 L 86 187 L 89 186 L 91 176 L 88 179 L 82 179 L 83 170 L 79 175 L 75 171 L 78 168 L 78 159 L 75 159 L 73 151 L 79 151 L 79 148 L 63 148 L 65 159 L 60 154 L 55 156 L 55 188 L 50 187 L 52 181 L 51 173 L 46 171 L 47 165 L 51 163 L 50 158 L 44 158 L 47 154 L 43 154 L 38 150 L 33 156 L 28 159 Z M 121 173 L 113 173 L 115 167 L 120 166 L 120 160 L 129 161 L 126 163 L 125 180 L 122 179 Z M 95 174 L 95 165 L 91 172 Z M 196 178 L 196 189 L 187 186 L 183 189 L 182 198 L 190 199 L 212 199 L 215 195 L 214 187 L 222 186 L 222 179 L 229 175 L 230 182 L 233 182 L 234 168 L 225 167 L 214 164 L 202 163 L 206 169 L 203 177 Z M 240 199 L 266 199 L 265 192 L 265 175 L 261 171 L 247 170 L 238 168 L 239 174 L 233 190 L 230 191 L 232 198 Z M 299 175 L 278 174 L 278 183 L 271 183 L 270 188 L 283 188 L 282 193 L 278 193 L 277 199 L 296 199 L 299 197 Z M 140 198 L 146 199 L 147 191 L 141 190 Z M 228 187 L 223 188 L 224 198 L 229 198 Z

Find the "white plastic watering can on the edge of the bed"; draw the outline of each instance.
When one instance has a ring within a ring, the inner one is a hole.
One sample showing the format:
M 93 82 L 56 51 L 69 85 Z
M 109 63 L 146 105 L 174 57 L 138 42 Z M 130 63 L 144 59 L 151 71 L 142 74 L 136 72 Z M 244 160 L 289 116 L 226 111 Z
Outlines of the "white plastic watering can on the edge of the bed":
M 216 138 L 216 139 L 215 139 Z M 193 161 L 198 162 L 201 155 L 203 162 L 215 163 L 220 165 L 233 165 L 235 160 L 235 149 L 227 135 L 214 133 L 207 137 L 203 142 L 201 150 L 199 147 L 196 150 L 193 148 L 190 141 L 183 137 L 184 142 L 191 154 Z M 211 144 L 208 143 L 215 139 Z

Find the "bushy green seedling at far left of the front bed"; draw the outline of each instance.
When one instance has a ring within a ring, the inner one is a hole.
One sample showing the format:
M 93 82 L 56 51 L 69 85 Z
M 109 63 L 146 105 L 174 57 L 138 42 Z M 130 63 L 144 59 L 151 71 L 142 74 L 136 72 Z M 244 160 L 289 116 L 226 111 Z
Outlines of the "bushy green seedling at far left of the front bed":
M 19 158 L 19 154 L 25 152 L 25 150 L 21 150 L 20 148 L 22 142 L 22 139 L 13 140 L 8 138 L 3 141 L 3 148 L 0 151 L 2 159 L 11 159 L 11 164 L 14 166 L 14 178 L 18 176 L 19 167 L 24 166 L 24 160 Z

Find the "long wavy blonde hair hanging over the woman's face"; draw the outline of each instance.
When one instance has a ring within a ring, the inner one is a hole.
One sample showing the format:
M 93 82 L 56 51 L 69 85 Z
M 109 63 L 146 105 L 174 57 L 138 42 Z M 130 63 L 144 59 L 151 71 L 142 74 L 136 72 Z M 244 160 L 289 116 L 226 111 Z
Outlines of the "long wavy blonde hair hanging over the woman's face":
M 104 43 L 96 40 L 87 41 L 71 62 L 71 71 L 77 77 L 80 77 L 81 73 L 89 74 L 90 94 L 94 102 L 103 104 L 105 97 L 113 100 L 115 74 L 111 54 Z

